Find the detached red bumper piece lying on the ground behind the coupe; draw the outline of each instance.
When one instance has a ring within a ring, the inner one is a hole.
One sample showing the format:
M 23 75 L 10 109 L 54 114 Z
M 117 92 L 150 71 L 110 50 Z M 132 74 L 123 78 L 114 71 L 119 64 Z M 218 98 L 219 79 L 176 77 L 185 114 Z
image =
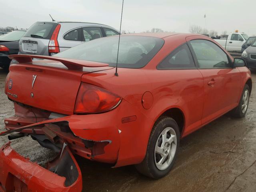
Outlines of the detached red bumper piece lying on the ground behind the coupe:
M 15 152 L 8 142 L 0 149 L 0 192 L 78 192 L 82 175 L 68 146 L 46 168 Z

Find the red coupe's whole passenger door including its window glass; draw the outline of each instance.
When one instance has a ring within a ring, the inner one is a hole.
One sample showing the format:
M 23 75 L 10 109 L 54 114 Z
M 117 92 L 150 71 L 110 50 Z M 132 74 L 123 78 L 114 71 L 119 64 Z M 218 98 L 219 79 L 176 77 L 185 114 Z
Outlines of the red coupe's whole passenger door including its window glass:
M 206 124 L 238 105 L 240 71 L 232 67 L 232 59 L 214 42 L 196 39 L 189 44 L 204 78 L 202 124 Z

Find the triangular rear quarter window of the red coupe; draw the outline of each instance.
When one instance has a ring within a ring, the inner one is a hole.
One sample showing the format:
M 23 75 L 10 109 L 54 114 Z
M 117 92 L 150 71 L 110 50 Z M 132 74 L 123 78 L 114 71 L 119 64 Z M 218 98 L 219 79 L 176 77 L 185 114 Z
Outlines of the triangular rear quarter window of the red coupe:
M 164 68 L 195 68 L 193 58 L 187 44 L 184 44 L 174 50 L 158 66 L 158 69 Z

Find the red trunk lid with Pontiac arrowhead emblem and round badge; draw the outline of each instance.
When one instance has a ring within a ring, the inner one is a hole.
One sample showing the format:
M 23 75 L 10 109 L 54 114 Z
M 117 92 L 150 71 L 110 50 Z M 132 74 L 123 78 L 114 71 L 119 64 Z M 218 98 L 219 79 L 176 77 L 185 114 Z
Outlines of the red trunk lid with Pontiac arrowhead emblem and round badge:
M 113 68 L 100 63 L 94 63 L 98 66 L 92 67 L 91 62 L 86 64 L 87 61 L 81 61 L 83 66 L 91 67 L 70 70 L 64 66 L 66 63 L 63 65 L 54 60 L 56 58 L 50 58 L 52 60 L 12 64 L 6 78 L 8 98 L 43 110 L 70 115 L 74 113 L 81 76 Z M 69 64 L 72 65 L 72 62 Z

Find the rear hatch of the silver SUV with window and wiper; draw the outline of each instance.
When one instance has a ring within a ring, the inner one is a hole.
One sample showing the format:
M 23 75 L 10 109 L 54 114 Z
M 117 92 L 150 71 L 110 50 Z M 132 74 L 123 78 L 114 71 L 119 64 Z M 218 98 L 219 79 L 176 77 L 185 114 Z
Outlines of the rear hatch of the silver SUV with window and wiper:
M 20 54 L 49 55 L 49 43 L 54 30 L 60 24 L 56 22 L 36 22 L 20 39 Z M 59 29 L 58 29 L 59 30 Z M 56 34 L 58 37 L 58 32 Z M 57 46 L 57 45 L 56 45 Z

